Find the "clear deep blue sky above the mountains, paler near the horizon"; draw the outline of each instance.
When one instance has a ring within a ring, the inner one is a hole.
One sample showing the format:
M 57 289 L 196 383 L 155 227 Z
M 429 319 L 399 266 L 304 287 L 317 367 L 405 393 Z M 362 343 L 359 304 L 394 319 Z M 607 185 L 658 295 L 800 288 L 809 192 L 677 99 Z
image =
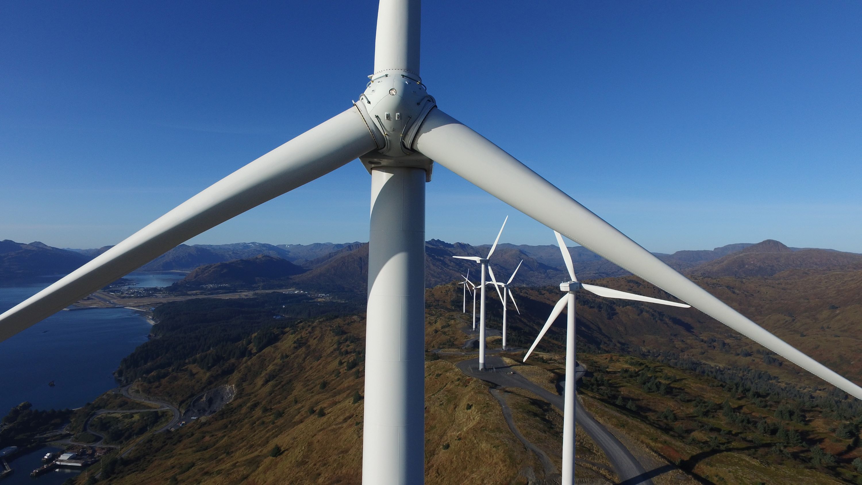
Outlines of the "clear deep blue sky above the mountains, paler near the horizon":
M 537 8 L 538 7 L 538 8 Z M 422 78 L 651 251 L 862 252 L 862 3 L 423 6 Z M 347 109 L 368 2 L 0 3 L 0 239 L 116 244 Z M 191 242 L 368 239 L 359 162 Z M 428 238 L 552 244 L 437 165 Z

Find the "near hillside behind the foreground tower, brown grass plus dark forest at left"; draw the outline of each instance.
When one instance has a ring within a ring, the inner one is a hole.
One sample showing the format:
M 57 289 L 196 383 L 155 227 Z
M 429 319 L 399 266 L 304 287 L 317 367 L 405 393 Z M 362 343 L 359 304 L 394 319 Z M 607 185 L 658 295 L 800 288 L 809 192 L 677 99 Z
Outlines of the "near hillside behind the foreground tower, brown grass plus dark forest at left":
M 109 482 L 281 484 L 290 477 L 293 483 L 359 483 L 364 319 L 288 317 L 243 339 L 232 333 L 234 326 L 227 320 L 215 316 L 224 311 L 218 306 L 241 305 L 245 312 L 268 317 L 280 311 L 280 299 L 298 296 L 268 298 L 246 304 L 175 303 L 159 314 L 155 328 L 168 327 L 159 331 L 159 339 L 147 343 L 148 350 L 136 351 L 124 361 L 123 376 L 130 380 L 141 376 L 136 385 L 142 392 L 176 403 L 188 403 L 201 390 L 222 383 L 233 384 L 236 397 L 212 417 L 147 438 L 119 461 Z M 287 309 L 290 306 L 287 302 Z M 433 320 L 429 340 L 460 338 L 461 315 L 432 307 L 429 319 Z M 236 315 L 233 320 L 248 319 Z M 219 333 L 235 336 L 209 350 L 211 345 L 198 342 L 190 327 L 209 333 L 206 321 L 219 322 Z M 190 342 L 198 350 L 183 345 L 179 353 L 168 356 L 160 351 L 165 339 Z M 548 483 L 541 463 L 509 431 L 484 383 L 465 377 L 446 358 L 429 360 L 426 368 L 428 484 L 526 485 L 528 477 L 534 483 Z M 530 398 L 513 399 L 518 400 L 512 412 L 519 429 L 538 437 L 559 469 L 559 413 Z M 580 457 L 606 463 L 593 451 L 589 438 L 578 438 Z M 489 475 L 491 469 L 494 473 Z M 598 477 L 589 467 L 578 469 L 578 476 L 590 481 Z

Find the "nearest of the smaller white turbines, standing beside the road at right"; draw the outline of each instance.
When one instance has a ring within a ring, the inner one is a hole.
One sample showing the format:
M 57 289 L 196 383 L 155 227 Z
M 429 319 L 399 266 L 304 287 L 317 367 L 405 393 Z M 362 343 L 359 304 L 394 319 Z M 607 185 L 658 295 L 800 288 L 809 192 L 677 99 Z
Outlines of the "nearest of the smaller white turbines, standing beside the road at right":
M 547 317 L 545 326 L 542 327 L 539 336 L 536 337 L 530 350 L 524 355 L 524 362 L 533 353 L 536 345 L 545 336 L 545 333 L 553 325 L 554 320 L 557 320 L 559 314 L 563 312 L 563 308 L 568 306 L 568 315 L 565 326 L 565 397 L 563 399 L 563 479 L 561 485 L 573 485 L 575 482 L 575 295 L 578 289 L 586 289 L 591 293 L 608 298 L 622 298 L 624 300 L 637 300 L 639 302 L 660 303 L 662 305 L 671 305 L 671 307 L 690 308 L 690 305 L 677 302 L 668 302 L 667 300 L 659 300 L 658 298 L 650 298 L 649 296 L 634 295 L 616 289 L 603 288 L 593 284 L 579 283 L 575 277 L 575 265 L 572 263 L 572 255 L 569 254 L 569 248 L 565 246 L 563 236 L 557 231 L 553 232 L 557 236 L 559 243 L 559 251 L 563 253 L 565 260 L 565 269 L 569 270 L 570 281 L 560 283 L 559 289 L 565 292 L 565 295 L 559 299 L 551 311 L 551 316 Z

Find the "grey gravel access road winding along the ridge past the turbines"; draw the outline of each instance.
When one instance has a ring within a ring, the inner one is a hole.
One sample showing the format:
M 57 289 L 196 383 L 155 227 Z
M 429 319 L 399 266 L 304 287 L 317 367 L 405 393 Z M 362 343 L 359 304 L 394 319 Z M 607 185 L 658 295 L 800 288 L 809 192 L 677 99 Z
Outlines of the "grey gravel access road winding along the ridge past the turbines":
M 528 390 L 534 395 L 538 395 L 545 401 L 550 402 L 560 411 L 563 410 L 563 396 L 555 395 L 521 374 L 518 374 L 508 364 L 503 362 L 502 358 L 486 355 L 485 365 L 493 368 L 493 370 L 480 372 L 478 370 L 478 358 L 463 360 L 458 363 L 458 368 L 466 375 L 476 377 L 485 382 L 491 382 L 503 387 Z M 647 470 L 638 462 L 637 458 L 632 455 L 631 451 L 628 451 L 628 448 L 620 443 L 619 439 L 608 431 L 608 428 L 595 420 L 590 413 L 587 413 L 579 400 L 575 403 L 575 408 L 575 422 L 602 448 L 605 456 L 608 457 L 610 463 L 614 466 L 616 475 L 622 481 L 620 485 L 653 485 L 653 481 L 650 478 L 651 475 L 647 474 Z

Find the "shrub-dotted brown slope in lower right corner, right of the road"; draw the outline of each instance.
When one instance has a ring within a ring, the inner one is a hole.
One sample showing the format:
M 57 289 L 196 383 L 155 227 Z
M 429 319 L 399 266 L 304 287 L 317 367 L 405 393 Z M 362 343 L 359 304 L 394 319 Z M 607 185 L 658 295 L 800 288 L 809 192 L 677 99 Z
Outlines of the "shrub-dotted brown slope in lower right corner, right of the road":
M 580 359 L 593 369 L 607 369 L 611 387 L 610 396 L 590 390 L 582 390 L 584 401 L 597 420 L 622 431 L 632 441 L 648 451 L 678 463 L 694 476 L 709 482 L 727 483 L 841 483 L 857 482 L 862 475 L 854 473 L 850 463 L 862 451 L 851 439 L 839 439 L 834 429 L 839 420 L 823 417 L 820 413 L 807 414 L 804 423 L 781 421 L 773 417 L 777 403 L 757 407 L 745 395 L 734 395 L 721 388 L 719 382 L 696 373 L 678 370 L 639 358 L 619 355 L 584 354 Z M 670 395 L 647 392 L 634 381 L 623 377 L 623 369 L 642 370 L 672 382 Z M 635 403 L 636 410 L 614 404 L 614 395 L 622 395 L 624 402 Z M 681 397 L 682 396 L 682 397 Z M 695 398 L 712 401 L 716 410 L 704 416 L 695 412 Z M 779 439 L 774 435 L 755 437 L 758 433 L 751 426 L 737 426 L 724 418 L 721 402 L 728 399 L 737 413 L 753 420 L 765 420 L 775 426 L 796 429 L 806 445 L 819 445 L 838 458 L 838 467 L 821 467 L 810 463 L 810 453 L 805 446 L 788 446 L 786 453 L 775 447 Z M 665 409 L 671 409 L 676 420 L 661 417 Z M 718 446 L 710 445 L 710 437 L 717 439 Z

